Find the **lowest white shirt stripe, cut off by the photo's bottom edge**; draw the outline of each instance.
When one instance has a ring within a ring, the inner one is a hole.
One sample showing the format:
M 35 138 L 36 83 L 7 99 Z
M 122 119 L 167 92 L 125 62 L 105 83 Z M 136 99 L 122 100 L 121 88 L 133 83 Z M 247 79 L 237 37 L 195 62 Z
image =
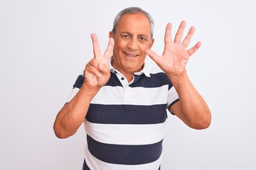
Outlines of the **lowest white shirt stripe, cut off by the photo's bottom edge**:
M 102 162 L 90 154 L 87 146 L 85 147 L 85 162 L 91 170 L 156 170 L 159 169 L 161 164 L 161 156 L 155 162 L 149 164 L 139 165 L 122 165 L 122 164 L 110 164 Z

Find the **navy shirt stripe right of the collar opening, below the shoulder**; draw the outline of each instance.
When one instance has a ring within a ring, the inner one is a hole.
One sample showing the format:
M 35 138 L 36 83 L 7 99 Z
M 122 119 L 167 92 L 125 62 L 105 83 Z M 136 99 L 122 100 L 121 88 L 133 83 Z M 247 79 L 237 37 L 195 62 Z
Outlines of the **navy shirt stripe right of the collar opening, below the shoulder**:
M 154 88 L 160 87 L 169 84 L 169 89 L 172 84 L 169 78 L 165 73 L 159 72 L 156 74 L 150 74 L 150 77 L 142 75 L 134 75 L 134 81 L 129 86 L 131 87 L 145 87 L 145 88 Z

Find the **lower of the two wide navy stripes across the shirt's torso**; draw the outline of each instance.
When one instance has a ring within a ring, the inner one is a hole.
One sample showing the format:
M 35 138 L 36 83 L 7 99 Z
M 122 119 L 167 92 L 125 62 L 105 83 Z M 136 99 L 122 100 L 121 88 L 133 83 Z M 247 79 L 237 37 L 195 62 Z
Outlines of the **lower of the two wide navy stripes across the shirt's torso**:
M 155 162 L 162 151 L 162 142 L 151 145 L 111 145 L 93 140 L 87 135 L 90 153 L 102 162 L 137 165 Z

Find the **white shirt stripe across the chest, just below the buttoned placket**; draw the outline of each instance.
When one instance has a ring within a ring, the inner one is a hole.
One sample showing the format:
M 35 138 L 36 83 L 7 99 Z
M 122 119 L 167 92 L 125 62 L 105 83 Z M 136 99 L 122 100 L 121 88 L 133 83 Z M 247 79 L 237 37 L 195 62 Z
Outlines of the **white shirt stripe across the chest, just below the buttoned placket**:
M 157 88 L 102 86 L 91 103 L 155 105 L 167 102 L 168 85 Z

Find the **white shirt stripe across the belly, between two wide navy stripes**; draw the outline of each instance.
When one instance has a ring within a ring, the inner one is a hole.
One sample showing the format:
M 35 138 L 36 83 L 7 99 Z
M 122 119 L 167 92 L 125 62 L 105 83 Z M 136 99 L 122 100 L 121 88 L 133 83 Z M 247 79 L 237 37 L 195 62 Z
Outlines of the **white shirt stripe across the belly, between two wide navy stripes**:
M 98 142 L 116 145 L 154 144 L 164 138 L 165 123 L 154 125 L 110 125 L 84 121 L 85 131 Z

